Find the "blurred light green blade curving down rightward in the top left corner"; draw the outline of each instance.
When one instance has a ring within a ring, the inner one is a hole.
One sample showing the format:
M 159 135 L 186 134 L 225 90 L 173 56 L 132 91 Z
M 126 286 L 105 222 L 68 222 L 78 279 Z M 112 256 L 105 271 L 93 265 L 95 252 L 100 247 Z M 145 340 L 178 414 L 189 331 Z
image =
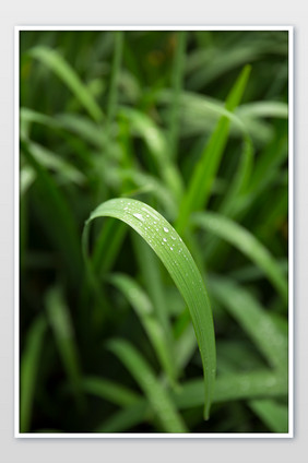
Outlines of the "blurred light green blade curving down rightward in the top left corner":
M 74 94 L 75 98 L 82 104 L 96 122 L 99 122 L 103 119 L 103 111 L 93 98 L 92 94 L 88 92 L 86 85 L 80 80 L 74 69 L 57 50 L 44 46 L 37 46 L 29 50 L 29 55 L 40 61 L 44 66 L 48 67 L 63 81 L 63 83 Z

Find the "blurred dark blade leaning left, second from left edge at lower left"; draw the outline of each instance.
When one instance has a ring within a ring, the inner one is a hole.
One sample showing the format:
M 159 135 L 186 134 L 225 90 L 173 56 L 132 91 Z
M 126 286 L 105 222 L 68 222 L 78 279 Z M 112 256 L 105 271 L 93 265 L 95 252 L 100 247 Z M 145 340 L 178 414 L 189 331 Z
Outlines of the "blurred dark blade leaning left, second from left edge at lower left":
M 61 290 L 51 288 L 46 295 L 46 309 L 56 345 L 79 407 L 84 405 L 81 388 L 81 367 L 69 308 Z

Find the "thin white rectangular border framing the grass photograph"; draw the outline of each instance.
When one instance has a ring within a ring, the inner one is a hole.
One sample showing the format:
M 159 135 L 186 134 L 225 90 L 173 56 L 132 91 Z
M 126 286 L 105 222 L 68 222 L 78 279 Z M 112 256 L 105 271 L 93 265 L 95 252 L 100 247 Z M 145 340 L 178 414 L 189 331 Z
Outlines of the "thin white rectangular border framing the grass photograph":
M 22 31 L 286 31 L 288 32 L 288 432 L 287 434 L 86 434 L 20 432 L 20 32 Z M 19 439 L 291 439 L 294 437 L 294 27 L 293 26 L 15 26 L 14 27 L 14 437 Z

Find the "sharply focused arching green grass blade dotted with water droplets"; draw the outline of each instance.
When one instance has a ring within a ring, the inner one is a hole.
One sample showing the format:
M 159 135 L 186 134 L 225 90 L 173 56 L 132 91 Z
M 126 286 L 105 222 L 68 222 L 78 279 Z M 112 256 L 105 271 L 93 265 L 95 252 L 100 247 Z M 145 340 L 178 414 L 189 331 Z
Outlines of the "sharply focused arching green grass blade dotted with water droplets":
M 204 371 L 205 406 L 209 417 L 215 380 L 215 336 L 204 283 L 191 254 L 170 224 L 155 210 L 131 199 L 115 199 L 92 212 L 83 233 L 87 256 L 88 227 L 97 217 L 110 216 L 129 224 L 156 252 L 186 300 L 192 318 Z

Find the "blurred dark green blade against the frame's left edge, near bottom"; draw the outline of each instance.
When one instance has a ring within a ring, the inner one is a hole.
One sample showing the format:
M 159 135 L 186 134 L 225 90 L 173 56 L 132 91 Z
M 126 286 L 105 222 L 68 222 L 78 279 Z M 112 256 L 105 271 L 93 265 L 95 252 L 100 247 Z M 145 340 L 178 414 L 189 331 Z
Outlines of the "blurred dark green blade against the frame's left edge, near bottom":
M 27 333 L 25 348 L 21 358 L 20 432 L 27 432 L 31 427 L 33 401 L 46 327 L 44 317 L 38 316 Z

